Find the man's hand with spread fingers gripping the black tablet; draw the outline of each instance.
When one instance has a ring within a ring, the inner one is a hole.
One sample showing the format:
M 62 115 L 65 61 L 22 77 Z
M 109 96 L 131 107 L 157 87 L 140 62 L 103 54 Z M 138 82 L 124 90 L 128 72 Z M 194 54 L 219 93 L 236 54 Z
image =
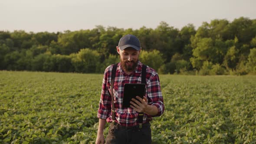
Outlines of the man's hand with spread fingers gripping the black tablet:
M 136 96 L 136 98 L 138 100 L 136 100 L 135 98 L 131 99 L 131 101 L 130 101 L 131 108 L 135 109 L 135 111 L 138 111 L 138 112 L 146 112 L 146 110 L 149 106 L 148 105 L 148 98 L 143 97 L 143 99 L 142 99 L 139 96 Z

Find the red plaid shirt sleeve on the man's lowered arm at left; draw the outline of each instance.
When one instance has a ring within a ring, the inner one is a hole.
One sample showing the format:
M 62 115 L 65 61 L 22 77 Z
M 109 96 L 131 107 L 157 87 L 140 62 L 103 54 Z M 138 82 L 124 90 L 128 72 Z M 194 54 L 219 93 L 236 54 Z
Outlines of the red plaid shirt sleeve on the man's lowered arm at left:
M 102 93 L 98 106 L 98 118 L 107 119 L 111 115 L 111 95 L 108 92 L 107 82 L 109 67 L 105 69 L 102 81 Z

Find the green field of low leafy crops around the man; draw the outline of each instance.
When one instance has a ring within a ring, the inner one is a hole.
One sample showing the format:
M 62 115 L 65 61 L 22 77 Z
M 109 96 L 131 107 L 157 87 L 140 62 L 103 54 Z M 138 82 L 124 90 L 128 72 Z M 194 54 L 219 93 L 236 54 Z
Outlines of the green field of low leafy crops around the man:
M 0 143 L 95 143 L 102 78 L 0 71 Z M 160 82 L 165 111 L 152 122 L 154 144 L 256 143 L 256 76 L 160 75 Z

